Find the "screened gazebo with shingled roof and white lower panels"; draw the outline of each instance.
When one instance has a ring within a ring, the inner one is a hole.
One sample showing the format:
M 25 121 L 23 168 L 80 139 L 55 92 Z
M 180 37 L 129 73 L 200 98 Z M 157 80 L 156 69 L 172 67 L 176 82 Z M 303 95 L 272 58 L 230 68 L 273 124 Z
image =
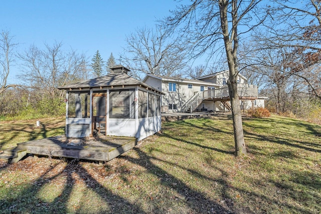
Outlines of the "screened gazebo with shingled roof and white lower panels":
M 113 73 L 62 86 L 66 90 L 66 135 L 129 136 L 141 140 L 161 130 L 163 92 L 129 75 L 122 65 Z

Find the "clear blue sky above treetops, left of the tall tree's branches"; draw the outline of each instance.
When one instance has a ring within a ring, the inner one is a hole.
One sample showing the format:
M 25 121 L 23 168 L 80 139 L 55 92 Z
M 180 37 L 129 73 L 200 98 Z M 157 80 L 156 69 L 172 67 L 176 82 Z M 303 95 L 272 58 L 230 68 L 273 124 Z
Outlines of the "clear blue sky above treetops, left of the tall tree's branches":
M 85 53 L 89 59 L 99 50 L 107 60 L 110 53 L 118 59 L 125 47 L 126 35 L 137 28 L 150 27 L 155 20 L 170 15 L 180 3 L 174 0 L 113 1 L 2 1 L 0 30 L 9 31 L 22 52 L 35 44 L 43 48 L 62 42 Z M 12 67 L 9 83 L 16 83 L 19 72 Z

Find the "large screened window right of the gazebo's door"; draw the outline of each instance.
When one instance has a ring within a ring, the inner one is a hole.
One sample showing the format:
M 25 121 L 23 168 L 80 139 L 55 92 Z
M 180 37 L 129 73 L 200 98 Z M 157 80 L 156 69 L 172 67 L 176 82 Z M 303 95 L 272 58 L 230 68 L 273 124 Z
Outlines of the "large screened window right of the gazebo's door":
M 109 91 L 109 118 L 135 118 L 135 91 Z

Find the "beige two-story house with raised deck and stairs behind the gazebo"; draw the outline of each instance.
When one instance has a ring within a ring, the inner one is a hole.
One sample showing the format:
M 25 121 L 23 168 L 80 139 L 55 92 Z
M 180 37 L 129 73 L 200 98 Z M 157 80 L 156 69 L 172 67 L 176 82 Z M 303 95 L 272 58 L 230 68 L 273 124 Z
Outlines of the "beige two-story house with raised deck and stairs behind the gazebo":
M 197 79 L 147 74 L 143 82 L 165 93 L 162 112 L 214 112 L 231 110 L 228 78 L 226 70 Z M 264 98 L 258 100 L 257 86 L 247 84 L 247 79 L 241 74 L 238 74 L 237 82 L 242 109 L 253 108 L 258 101 L 264 107 Z

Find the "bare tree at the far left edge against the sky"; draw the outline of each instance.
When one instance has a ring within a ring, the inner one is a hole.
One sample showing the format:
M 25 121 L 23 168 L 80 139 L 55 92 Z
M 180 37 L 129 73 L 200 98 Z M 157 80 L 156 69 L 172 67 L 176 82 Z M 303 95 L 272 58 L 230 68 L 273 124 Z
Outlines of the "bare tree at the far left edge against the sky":
M 8 31 L 2 31 L 0 34 L 0 95 L 5 90 L 11 87 L 18 87 L 17 84 L 7 85 L 8 76 L 10 74 L 10 67 L 15 60 L 14 48 L 18 44 L 13 41 Z

